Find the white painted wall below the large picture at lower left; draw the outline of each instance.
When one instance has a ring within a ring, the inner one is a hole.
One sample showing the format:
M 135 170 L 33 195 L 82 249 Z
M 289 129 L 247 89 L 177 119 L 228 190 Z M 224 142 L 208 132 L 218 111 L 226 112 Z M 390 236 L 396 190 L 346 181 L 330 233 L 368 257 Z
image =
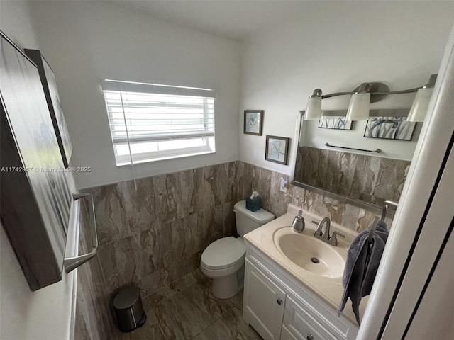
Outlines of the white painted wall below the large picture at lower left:
M 0 339 L 70 339 L 74 275 L 32 292 L 0 225 Z

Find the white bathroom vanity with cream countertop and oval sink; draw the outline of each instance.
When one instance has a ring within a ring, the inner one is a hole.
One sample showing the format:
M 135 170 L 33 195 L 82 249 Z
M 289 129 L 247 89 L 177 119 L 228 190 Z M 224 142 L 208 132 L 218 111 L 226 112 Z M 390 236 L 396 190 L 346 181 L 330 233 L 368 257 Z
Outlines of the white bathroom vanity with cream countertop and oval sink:
M 331 232 L 340 231 L 345 239 L 331 246 L 314 237 L 311 221 L 320 221 L 319 216 L 304 212 L 306 229 L 293 232 L 297 212 L 289 205 L 286 215 L 245 235 L 243 317 L 265 340 L 355 339 L 358 325 L 351 302 L 341 317 L 336 310 L 348 245 L 356 233 L 333 223 Z M 366 302 L 364 298 L 361 314 Z

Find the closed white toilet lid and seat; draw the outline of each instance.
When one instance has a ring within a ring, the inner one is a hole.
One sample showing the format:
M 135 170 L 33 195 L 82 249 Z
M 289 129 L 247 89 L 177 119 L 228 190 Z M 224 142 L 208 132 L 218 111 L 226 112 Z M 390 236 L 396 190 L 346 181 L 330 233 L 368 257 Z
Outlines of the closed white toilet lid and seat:
M 201 254 L 201 265 L 211 270 L 221 270 L 244 263 L 246 248 L 235 237 L 217 239 Z

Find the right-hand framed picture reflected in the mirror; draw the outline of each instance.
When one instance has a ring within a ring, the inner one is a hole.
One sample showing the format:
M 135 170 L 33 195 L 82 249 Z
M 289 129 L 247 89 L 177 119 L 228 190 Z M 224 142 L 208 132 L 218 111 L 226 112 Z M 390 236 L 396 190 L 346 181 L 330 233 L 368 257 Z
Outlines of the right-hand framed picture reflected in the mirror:
M 405 117 L 377 117 L 367 120 L 364 137 L 385 140 L 411 140 L 416 123 Z

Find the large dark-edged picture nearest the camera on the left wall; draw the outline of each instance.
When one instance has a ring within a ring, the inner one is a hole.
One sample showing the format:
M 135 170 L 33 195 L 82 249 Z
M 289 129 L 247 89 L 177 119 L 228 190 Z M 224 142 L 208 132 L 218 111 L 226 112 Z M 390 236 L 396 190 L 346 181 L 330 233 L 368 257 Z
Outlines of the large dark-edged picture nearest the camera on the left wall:
M 38 69 L 0 36 L 1 222 L 37 290 L 62 278 L 72 196 Z

